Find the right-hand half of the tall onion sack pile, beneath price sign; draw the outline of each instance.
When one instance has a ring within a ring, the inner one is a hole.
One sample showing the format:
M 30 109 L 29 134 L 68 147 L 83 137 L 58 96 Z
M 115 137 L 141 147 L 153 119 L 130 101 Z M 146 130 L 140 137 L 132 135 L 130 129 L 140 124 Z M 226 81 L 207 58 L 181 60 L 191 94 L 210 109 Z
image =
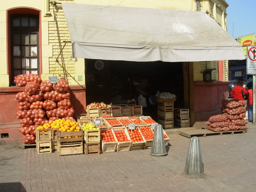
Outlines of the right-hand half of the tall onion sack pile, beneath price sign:
M 49 80 L 41 83 L 40 89 L 44 93 L 43 107 L 49 121 L 56 119 L 75 121 L 73 118 L 75 110 L 70 101 L 69 85 L 64 79 L 60 79 L 56 83 L 56 90 L 53 89 L 53 84 Z

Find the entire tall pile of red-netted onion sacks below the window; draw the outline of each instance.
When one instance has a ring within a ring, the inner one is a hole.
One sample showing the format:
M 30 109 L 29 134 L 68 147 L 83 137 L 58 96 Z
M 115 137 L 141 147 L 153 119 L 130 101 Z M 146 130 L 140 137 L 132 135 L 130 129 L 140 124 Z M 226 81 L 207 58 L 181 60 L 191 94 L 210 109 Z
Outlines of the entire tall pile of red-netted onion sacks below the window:
M 16 118 L 20 119 L 24 144 L 36 143 L 36 126 L 59 118 L 74 120 L 75 111 L 69 100 L 69 86 L 65 80 L 61 79 L 56 83 L 56 90 L 53 90 L 53 84 L 49 80 L 42 82 L 35 74 L 15 76 L 14 82 L 17 86 L 25 86 L 23 92 L 16 94 L 16 99 L 20 102 Z

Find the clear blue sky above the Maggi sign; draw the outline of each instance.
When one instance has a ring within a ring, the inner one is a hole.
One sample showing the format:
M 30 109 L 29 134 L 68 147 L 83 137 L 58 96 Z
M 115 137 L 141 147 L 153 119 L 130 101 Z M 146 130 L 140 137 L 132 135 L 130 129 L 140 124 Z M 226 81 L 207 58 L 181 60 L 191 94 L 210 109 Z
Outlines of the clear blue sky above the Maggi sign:
M 227 29 L 232 37 L 256 33 L 256 0 L 226 0 Z

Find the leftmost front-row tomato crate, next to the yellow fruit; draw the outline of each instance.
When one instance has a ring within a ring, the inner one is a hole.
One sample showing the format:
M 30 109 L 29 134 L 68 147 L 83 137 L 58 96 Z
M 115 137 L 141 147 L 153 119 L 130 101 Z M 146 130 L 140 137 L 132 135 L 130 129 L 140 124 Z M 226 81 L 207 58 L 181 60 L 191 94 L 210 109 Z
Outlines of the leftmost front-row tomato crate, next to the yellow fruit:
M 116 151 L 117 141 L 114 137 L 113 129 L 100 130 L 100 137 L 100 147 L 102 153 Z

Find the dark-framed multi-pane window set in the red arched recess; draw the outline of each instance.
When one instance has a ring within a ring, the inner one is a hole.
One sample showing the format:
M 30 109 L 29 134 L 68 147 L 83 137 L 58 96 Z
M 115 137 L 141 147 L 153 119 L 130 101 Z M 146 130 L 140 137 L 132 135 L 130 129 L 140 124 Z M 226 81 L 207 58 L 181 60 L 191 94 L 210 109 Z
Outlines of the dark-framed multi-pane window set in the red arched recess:
M 12 79 L 20 74 L 33 73 L 38 75 L 38 30 L 37 15 L 12 15 Z

